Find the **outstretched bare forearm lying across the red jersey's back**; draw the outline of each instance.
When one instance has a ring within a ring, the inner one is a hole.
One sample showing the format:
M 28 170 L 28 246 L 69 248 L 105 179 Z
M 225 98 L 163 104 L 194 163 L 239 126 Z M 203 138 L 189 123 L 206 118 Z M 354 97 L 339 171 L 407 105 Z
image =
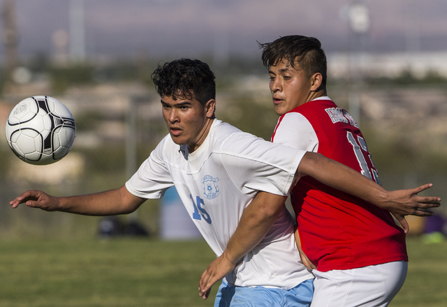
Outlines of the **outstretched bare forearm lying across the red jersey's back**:
M 298 167 L 298 175 L 309 175 L 321 183 L 342 190 L 362 200 L 383 207 L 387 190 L 356 170 L 319 153 L 306 153 Z M 299 182 L 298 182 L 299 184 Z

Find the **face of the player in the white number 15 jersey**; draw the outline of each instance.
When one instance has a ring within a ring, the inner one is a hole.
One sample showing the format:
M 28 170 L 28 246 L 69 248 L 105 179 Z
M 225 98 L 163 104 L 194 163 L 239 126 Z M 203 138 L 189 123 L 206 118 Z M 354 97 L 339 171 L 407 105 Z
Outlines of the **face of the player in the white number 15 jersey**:
M 215 103 L 212 99 L 203 106 L 195 98 L 161 97 L 163 118 L 175 144 L 187 145 L 191 153 L 203 143 L 210 130 Z

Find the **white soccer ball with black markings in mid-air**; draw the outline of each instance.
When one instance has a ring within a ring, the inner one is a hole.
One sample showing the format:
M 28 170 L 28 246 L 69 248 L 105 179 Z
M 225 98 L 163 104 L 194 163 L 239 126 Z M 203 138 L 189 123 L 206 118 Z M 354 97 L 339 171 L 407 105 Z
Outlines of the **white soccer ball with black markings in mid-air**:
M 8 116 L 6 139 L 26 163 L 47 165 L 64 158 L 75 141 L 73 115 L 59 100 L 34 96 L 17 103 Z

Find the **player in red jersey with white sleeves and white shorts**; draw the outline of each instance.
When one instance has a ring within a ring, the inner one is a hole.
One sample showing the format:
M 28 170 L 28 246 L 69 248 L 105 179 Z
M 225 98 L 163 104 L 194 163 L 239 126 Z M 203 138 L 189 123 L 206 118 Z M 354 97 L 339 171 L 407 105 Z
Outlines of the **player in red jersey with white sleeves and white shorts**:
M 322 153 L 379 183 L 356 121 L 326 94 L 326 59 L 321 43 L 306 36 L 284 36 L 262 47 L 274 110 L 281 115 L 272 142 Z M 291 196 L 300 237 L 297 243 L 305 252 L 303 261 L 316 276 L 312 307 L 387 306 L 406 276 L 404 232 L 408 225 L 404 214 L 429 214 L 379 208 L 311 177 L 300 179 Z M 258 210 L 250 207 L 242 220 L 249 210 Z M 390 212 L 405 230 L 395 224 Z M 203 291 L 207 291 L 206 283 L 223 276 L 225 269 L 256 244 L 256 236 L 253 241 L 248 239 L 253 235 L 251 229 L 268 225 L 265 220 L 257 224 L 253 216 L 240 223 L 235 238 L 243 237 L 245 246 L 235 246 L 234 238 L 230 240 L 223 254 L 228 257 L 212 264 L 200 280 Z M 258 235 L 262 237 L 263 233 Z

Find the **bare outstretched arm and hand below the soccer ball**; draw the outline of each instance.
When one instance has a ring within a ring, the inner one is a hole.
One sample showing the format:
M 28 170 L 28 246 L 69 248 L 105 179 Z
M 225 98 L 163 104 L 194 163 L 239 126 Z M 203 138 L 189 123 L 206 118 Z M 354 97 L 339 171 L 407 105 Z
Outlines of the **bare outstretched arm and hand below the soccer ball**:
M 127 190 L 126 186 L 100 193 L 54 197 L 41 190 L 27 190 L 10 202 L 13 208 L 25 203 L 28 207 L 45 211 L 63 211 L 87 216 L 112 216 L 129 214 L 145 202 L 144 198 L 136 197 Z

